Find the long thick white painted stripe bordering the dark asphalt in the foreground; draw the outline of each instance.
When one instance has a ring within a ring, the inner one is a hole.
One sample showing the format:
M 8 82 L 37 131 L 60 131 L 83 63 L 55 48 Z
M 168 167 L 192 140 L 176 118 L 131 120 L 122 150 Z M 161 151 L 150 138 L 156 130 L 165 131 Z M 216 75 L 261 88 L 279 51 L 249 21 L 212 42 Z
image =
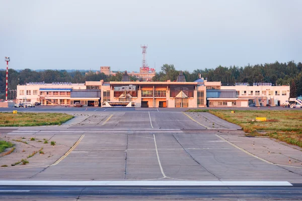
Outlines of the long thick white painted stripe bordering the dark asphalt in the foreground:
M 0 185 L 74 186 L 292 186 L 288 181 L 35 181 L 0 180 Z

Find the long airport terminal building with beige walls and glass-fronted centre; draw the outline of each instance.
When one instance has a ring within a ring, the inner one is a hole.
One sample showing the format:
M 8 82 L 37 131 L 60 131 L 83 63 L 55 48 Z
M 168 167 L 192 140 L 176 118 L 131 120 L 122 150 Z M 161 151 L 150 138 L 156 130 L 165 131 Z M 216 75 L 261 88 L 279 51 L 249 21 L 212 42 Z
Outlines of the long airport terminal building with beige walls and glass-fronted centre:
M 186 82 L 180 72 L 176 81 L 131 81 L 127 72 L 120 82 L 86 81 L 30 82 L 17 86 L 17 103 L 40 102 L 42 105 L 73 105 L 94 107 L 249 107 L 278 106 L 289 99 L 289 86 L 270 83 L 236 83 L 221 86 L 200 78 Z

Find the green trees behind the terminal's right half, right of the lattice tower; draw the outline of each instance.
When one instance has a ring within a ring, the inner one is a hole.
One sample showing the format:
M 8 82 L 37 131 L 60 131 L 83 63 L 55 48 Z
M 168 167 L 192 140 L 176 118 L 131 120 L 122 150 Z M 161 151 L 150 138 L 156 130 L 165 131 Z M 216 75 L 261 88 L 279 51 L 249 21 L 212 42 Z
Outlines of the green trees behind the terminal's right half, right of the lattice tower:
M 252 85 L 254 82 L 266 82 L 273 85 L 290 84 L 291 97 L 302 95 L 302 63 L 270 63 L 247 65 L 245 67 L 222 67 L 215 69 L 196 69 L 192 73 L 184 71 L 187 82 L 197 80 L 198 74 L 208 81 L 221 81 L 222 85 L 234 85 L 236 82 L 245 82 Z M 161 71 L 153 77 L 153 81 L 177 80 L 179 71 L 174 65 L 165 64 Z

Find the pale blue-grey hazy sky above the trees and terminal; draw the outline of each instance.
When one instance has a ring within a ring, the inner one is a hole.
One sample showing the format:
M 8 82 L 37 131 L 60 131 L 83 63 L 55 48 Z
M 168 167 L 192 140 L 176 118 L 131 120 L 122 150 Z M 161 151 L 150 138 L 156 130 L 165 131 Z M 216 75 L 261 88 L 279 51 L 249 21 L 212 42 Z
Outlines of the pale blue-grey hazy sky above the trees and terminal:
M 302 61 L 302 1 L 4 0 L 0 56 L 13 69 L 157 72 Z

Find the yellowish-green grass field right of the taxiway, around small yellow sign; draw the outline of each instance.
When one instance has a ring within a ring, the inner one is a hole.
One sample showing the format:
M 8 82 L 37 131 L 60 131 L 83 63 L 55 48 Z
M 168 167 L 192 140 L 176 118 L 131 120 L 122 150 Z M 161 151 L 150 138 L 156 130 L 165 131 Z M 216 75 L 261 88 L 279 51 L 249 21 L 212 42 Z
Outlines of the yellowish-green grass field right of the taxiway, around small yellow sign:
M 245 132 L 267 135 L 302 147 L 302 112 L 298 110 L 188 110 L 187 112 L 209 112 L 241 126 Z M 267 121 L 255 121 L 256 117 L 266 117 Z M 262 134 L 261 131 L 265 131 L 266 134 Z

